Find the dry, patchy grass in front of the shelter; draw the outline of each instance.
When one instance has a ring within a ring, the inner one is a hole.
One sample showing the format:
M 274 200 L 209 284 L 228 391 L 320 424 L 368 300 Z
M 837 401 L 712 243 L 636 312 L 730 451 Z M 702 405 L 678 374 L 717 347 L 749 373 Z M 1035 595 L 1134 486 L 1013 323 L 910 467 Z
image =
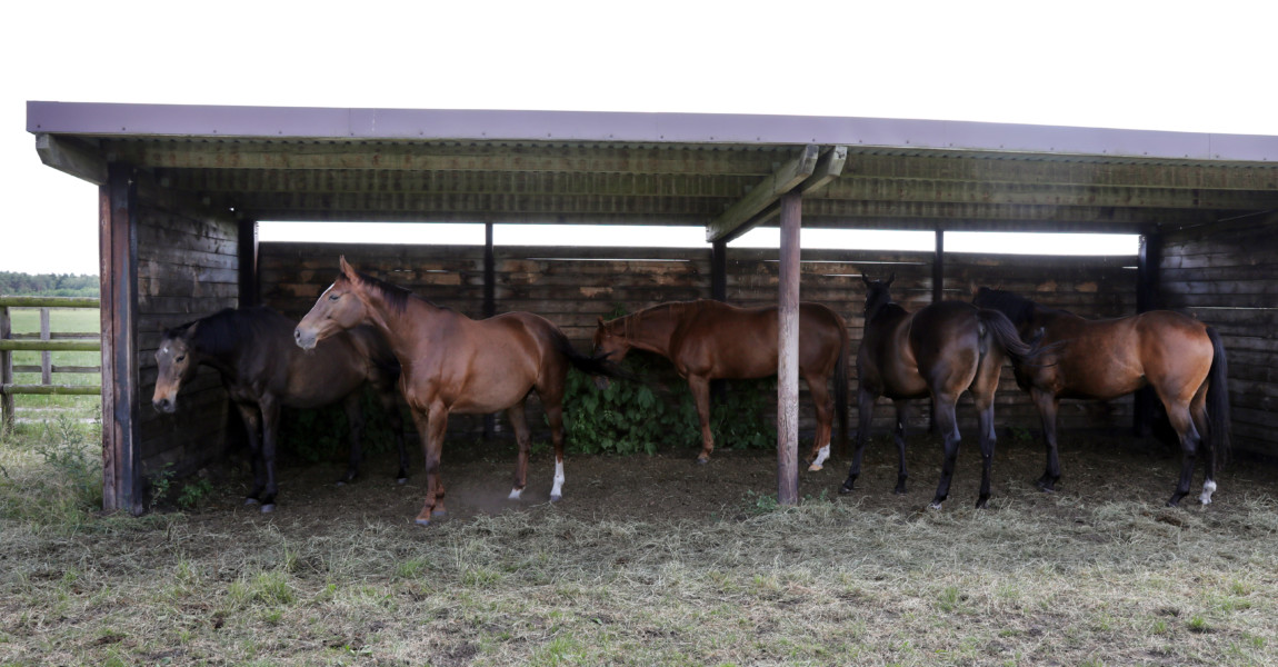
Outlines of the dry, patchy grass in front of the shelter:
M 0 450 L 10 475 L 49 473 L 20 447 Z M 746 496 L 700 520 L 538 505 L 427 530 L 0 512 L 0 664 L 1278 663 L 1270 494 L 1019 497 Z

